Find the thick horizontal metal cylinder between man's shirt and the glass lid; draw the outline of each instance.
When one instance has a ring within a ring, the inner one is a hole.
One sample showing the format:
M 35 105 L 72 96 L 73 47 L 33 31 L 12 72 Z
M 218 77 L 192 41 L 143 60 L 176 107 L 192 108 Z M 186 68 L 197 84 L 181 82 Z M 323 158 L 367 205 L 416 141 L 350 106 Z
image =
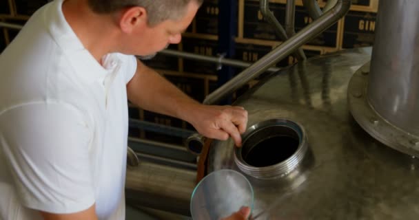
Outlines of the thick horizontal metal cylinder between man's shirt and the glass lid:
M 141 157 L 141 155 L 140 155 Z M 130 206 L 145 206 L 190 215 L 196 170 L 145 162 L 127 168 L 125 198 Z

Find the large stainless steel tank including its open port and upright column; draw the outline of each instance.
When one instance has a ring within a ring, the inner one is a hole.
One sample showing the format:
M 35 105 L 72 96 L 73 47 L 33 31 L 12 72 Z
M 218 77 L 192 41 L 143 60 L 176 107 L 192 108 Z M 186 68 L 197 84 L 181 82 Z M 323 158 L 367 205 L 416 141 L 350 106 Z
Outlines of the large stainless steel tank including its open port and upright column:
M 235 103 L 243 147 L 212 142 L 208 172 L 244 173 L 257 219 L 418 219 L 418 16 L 419 1 L 380 1 L 374 50 L 265 77 Z

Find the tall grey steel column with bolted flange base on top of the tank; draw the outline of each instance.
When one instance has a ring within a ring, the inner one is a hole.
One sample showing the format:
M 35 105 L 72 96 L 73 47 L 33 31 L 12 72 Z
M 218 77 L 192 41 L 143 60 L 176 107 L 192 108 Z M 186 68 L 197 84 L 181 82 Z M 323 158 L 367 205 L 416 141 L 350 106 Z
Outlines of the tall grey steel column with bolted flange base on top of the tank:
M 419 2 L 379 6 L 371 68 L 351 80 L 349 107 L 380 142 L 419 156 Z

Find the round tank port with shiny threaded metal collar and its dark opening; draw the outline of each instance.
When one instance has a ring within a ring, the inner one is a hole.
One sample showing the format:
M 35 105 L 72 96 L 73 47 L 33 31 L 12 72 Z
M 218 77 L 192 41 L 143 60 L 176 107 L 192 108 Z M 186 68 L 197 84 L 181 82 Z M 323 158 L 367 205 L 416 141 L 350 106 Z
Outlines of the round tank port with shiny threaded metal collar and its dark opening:
M 258 122 L 243 134 L 243 146 L 234 151 L 234 162 L 243 173 L 258 179 L 285 177 L 307 154 L 305 129 L 287 119 Z

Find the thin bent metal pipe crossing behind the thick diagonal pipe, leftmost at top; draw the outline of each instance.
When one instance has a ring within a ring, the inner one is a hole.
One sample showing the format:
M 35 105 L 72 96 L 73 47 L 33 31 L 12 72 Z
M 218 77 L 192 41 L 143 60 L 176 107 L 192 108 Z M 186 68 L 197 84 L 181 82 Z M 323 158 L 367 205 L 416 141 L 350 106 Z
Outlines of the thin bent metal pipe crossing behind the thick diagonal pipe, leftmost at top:
M 274 30 L 276 34 L 278 34 L 279 38 L 282 41 L 287 41 L 289 36 L 285 32 L 282 25 L 280 25 L 278 19 L 276 19 L 274 13 L 269 9 L 269 1 L 268 0 L 260 0 L 260 12 L 263 14 L 263 17 L 266 19 L 268 23 L 274 26 Z M 303 52 L 303 49 L 298 48 L 296 52 L 293 54 L 298 61 L 304 61 L 307 59 Z

